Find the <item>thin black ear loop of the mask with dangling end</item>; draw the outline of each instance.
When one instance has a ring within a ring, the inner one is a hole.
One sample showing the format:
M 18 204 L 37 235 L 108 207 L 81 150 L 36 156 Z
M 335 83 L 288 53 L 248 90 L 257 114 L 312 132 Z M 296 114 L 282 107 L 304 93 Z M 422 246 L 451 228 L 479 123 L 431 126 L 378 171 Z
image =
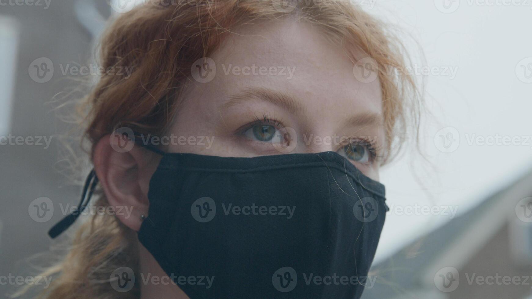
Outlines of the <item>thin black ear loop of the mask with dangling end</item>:
M 142 134 L 135 134 L 135 136 Z M 145 144 L 143 142 L 140 142 L 139 138 L 133 138 L 133 141 L 138 146 L 141 146 L 143 148 L 146 148 L 149 151 L 152 151 L 154 153 L 157 153 L 158 155 L 164 155 L 165 152 L 156 148 L 152 144 Z M 50 230 L 48 230 L 48 236 L 51 238 L 56 238 L 57 236 L 61 235 L 66 229 L 68 229 L 76 219 L 81 215 L 81 211 L 84 210 L 90 201 L 90 198 L 92 198 L 94 190 L 96 188 L 96 185 L 98 184 L 98 177 L 96 176 L 96 172 L 94 171 L 94 168 L 90 170 L 90 173 L 87 175 L 87 178 L 85 180 L 85 184 L 83 186 L 83 191 L 81 191 L 81 200 L 78 204 L 78 207 L 75 211 L 72 211 L 69 215 L 61 219 L 57 224 L 52 226 Z

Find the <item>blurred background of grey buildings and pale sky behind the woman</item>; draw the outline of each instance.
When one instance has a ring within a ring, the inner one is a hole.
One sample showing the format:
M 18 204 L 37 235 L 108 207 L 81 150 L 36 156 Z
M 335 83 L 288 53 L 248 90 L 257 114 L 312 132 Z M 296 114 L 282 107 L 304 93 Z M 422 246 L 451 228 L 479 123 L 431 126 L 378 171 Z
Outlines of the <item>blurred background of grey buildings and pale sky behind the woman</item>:
M 346 1 L 401 28 L 430 112 L 420 150 L 381 173 L 390 211 L 363 298 L 532 298 L 532 1 Z M 57 204 L 78 202 L 54 108 L 96 78 L 94 42 L 132 5 L 0 0 L 0 296 L 34 274 Z

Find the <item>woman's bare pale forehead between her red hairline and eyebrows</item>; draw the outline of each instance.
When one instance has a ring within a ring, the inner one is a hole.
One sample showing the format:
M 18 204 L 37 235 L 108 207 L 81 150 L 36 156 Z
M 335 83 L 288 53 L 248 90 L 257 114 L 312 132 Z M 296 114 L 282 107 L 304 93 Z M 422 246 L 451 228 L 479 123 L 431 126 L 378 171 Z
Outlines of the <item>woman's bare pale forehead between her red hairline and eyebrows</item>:
M 277 97 L 322 117 L 382 112 L 378 79 L 358 80 L 354 58 L 309 23 L 286 20 L 244 26 L 209 58 L 215 75 L 209 82 L 192 82 L 195 105 L 198 100 L 223 106 L 234 98 Z

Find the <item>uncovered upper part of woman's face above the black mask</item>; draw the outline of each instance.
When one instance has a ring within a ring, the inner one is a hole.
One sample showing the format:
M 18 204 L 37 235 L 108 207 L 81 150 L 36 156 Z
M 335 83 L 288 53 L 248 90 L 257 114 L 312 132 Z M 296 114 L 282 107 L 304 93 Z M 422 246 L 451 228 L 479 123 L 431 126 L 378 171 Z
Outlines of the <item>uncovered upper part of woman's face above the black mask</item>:
M 181 137 L 168 151 L 225 157 L 336 151 L 378 180 L 379 81 L 357 80 L 355 61 L 325 33 L 288 20 L 245 25 L 209 58 L 192 67 L 197 80 L 170 130 L 187 142 Z

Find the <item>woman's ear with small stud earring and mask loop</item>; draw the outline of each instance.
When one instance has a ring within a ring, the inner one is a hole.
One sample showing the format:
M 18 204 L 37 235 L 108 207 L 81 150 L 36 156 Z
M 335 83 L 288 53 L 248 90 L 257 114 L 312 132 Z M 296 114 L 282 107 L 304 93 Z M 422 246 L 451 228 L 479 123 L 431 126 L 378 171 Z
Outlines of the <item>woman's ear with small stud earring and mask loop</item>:
M 148 216 L 149 179 L 157 165 L 153 163 L 153 154 L 128 140 L 127 136 L 113 133 L 98 141 L 93 162 L 107 202 L 112 207 L 110 212 L 124 225 L 138 231 L 141 215 Z

